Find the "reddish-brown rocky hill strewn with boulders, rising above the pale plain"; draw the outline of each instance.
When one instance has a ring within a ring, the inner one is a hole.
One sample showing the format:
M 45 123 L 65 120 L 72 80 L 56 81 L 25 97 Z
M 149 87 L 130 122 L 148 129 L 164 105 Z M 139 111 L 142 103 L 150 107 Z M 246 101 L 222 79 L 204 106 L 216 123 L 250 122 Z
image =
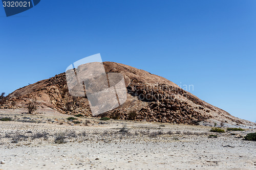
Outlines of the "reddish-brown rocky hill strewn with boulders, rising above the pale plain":
M 103 62 L 106 72 L 123 75 L 127 100 L 120 107 L 100 114 L 116 119 L 173 124 L 255 126 L 247 120 L 231 116 L 175 83 L 150 72 L 115 62 Z M 26 108 L 29 102 L 37 108 L 51 108 L 65 114 L 92 116 L 88 99 L 69 94 L 65 73 L 17 89 L 7 96 L 1 108 Z

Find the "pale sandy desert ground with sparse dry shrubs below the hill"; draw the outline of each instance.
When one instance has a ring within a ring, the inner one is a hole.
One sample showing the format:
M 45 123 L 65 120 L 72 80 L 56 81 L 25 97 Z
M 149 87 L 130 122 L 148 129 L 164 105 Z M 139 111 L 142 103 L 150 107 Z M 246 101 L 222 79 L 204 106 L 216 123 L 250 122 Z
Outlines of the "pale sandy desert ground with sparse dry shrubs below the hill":
M 255 129 L 215 133 L 206 126 L 68 120 L 51 110 L 1 109 L 0 117 L 12 119 L 0 121 L 0 169 L 256 168 L 256 142 L 243 140 Z

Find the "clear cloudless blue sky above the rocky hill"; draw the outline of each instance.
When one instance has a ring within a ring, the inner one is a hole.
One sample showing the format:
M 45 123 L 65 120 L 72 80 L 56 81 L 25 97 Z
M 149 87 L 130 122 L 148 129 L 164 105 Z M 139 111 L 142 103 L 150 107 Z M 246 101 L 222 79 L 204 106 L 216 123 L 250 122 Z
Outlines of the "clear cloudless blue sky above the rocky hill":
M 131 65 L 255 122 L 256 1 L 50 1 L 6 17 L 0 92 L 48 79 L 81 58 Z

